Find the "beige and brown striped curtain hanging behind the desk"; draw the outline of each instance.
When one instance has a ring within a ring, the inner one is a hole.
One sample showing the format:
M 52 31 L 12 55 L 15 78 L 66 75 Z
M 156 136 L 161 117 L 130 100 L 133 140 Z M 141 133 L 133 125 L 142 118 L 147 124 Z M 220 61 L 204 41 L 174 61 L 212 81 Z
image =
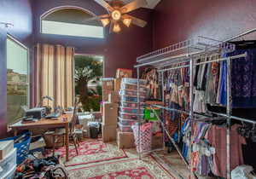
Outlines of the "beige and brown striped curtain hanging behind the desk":
M 36 107 L 45 95 L 54 101 L 44 99 L 43 106 L 73 107 L 73 57 L 71 47 L 37 44 L 32 61 L 32 107 Z

